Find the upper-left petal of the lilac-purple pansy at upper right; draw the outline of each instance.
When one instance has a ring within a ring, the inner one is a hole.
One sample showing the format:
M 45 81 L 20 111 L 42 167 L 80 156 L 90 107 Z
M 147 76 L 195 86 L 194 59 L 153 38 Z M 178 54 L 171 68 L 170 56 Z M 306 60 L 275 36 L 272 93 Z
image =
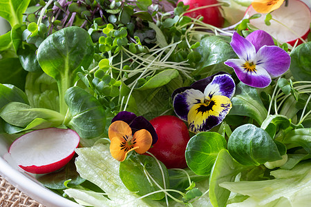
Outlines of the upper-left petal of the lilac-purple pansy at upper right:
M 230 45 L 232 46 L 234 52 L 236 52 L 236 55 L 238 55 L 239 59 L 252 61 L 256 55 L 255 46 L 253 46 L 253 44 L 245 38 L 241 37 L 238 32 L 234 32 Z

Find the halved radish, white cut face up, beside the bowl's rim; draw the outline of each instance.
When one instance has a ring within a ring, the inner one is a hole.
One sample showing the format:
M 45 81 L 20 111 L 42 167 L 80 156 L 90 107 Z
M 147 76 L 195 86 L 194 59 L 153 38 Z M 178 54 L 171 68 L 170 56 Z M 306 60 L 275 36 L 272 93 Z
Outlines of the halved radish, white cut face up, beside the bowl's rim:
M 10 146 L 9 153 L 26 172 L 44 174 L 65 166 L 79 145 L 74 130 L 46 128 L 22 135 Z

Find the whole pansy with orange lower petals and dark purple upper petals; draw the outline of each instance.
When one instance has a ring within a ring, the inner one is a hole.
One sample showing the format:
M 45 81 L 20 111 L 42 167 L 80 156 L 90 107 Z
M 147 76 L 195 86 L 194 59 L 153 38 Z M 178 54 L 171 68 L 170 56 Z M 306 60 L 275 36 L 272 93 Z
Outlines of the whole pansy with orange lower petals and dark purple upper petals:
M 124 161 L 132 150 L 144 154 L 158 140 L 156 130 L 147 119 L 126 111 L 113 117 L 108 134 L 111 155 L 118 161 Z

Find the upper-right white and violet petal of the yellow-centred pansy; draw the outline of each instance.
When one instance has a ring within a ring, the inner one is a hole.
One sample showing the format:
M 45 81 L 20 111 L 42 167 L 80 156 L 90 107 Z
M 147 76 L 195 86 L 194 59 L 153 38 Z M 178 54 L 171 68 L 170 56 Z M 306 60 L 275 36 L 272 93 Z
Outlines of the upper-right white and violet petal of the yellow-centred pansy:
M 236 84 L 232 77 L 228 74 L 216 75 L 209 83 L 205 90 L 205 97 L 211 97 L 216 95 L 222 95 L 231 99 L 234 96 L 234 92 L 236 91 Z

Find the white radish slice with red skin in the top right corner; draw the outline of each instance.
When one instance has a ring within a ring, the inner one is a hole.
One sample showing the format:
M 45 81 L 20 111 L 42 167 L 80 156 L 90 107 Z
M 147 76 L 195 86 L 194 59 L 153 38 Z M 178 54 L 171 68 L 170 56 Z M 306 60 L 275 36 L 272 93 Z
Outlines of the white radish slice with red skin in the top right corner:
M 256 13 L 251 5 L 247 8 L 245 17 L 251 17 Z M 281 43 L 287 42 L 294 46 L 297 39 L 307 39 L 310 32 L 311 12 L 305 3 L 299 0 L 289 0 L 288 6 L 285 6 L 284 2 L 271 14 L 276 21 L 271 20 L 270 26 L 265 25 L 265 14 L 258 19 L 251 19 L 249 22 L 256 28 L 265 30 Z M 298 43 L 302 43 L 301 39 Z

